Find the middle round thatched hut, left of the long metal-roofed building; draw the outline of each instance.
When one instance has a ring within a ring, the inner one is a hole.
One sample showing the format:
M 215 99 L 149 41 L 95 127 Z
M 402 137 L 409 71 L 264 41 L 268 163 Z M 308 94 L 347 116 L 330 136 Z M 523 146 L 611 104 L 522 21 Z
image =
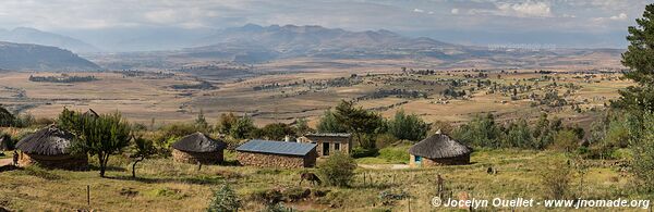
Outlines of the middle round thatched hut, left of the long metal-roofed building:
M 194 133 L 172 144 L 172 158 L 177 162 L 215 164 L 222 162 L 222 151 L 227 147 L 203 133 Z

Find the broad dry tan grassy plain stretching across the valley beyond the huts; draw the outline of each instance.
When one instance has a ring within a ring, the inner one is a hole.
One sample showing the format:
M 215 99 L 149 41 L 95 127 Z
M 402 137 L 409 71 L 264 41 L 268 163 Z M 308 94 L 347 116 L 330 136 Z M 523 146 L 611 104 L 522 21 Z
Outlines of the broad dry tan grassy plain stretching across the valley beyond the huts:
M 246 78 L 225 78 L 208 80 L 211 89 L 173 89 L 171 85 L 193 85 L 202 82 L 185 73 L 171 77 L 137 76 L 125 77 L 118 73 L 73 73 L 72 75 L 95 75 L 100 80 L 89 83 L 36 83 L 29 82 L 32 73 L 0 74 L 0 101 L 14 111 L 28 112 L 37 117 L 55 117 L 63 107 L 87 110 L 92 108 L 106 113 L 119 110 L 130 121 L 156 124 L 191 121 L 203 110 L 210 122 L 220 113 L 234 112 L 252 115 L 259 125 L 306 117 L 315 125 L 320 114 L 339 100 L 360 99 L 359 104 L 391 116 L 397 110 L 420 114 L 427 122 L 446 121 L 460 123 L 479 113 L 492 112 L 499 120 L 516 117 L 533 119 L 541 112 L 567 119 L 570 122 L 588 122 L 593 115 L 589 111 L 604 108 L 610 99 L 618 97 L 617 90 L 630 85 L 619 79 L 615 73 L 578 73 L 560 71 L 538 74 L 534 71 L 517 73 L 487 72 L 483 78 L 470 77 L 477 72 L 437 71 L 433 75 L 407 74 L 401 71 L 356 72 L 300 72 L 261 74 Z M 39 73 L 34 75 L 59 75 Z M 501 78 L 497 78 L 501 75 Z M 556 78 L 554 88 L 561 98 L 581 109 L 564 107 L 532 105 L 531 93 L 545 96 L 547 85 L 554 82 L 542 77 Z M 498 86 L 516 84 L 533 87 L 520 90 L 520 98 L 512 99 L 510 91 L 489 92 L 489 85 L 476 88 L 476 80 L 488 80 Z M 535 80 L 540 79 L 540 80 Z M 464 98 L 444 98 L 440 92 L 450 87 L 449 80 L 465 82 L 457 90 L 467 90 Z M 341 82 L 342 83 L 342 82 Z M 336 85 L 335 85 L 336 84 Z M 561 85 L 578 86 L 569 89 Z M 276 86 L 271 86 L 276 85 Z M 270 86 L 265 89 L 255 87 Z M 425 98 L 409 98 L 397 95 L 371 97 L 379 90 L 409 90 L 425 93 Z M 470 91 L 473 89 L 473 91 Z M 568 91 L 569 90 L 569 91 Z M 447 101 L 447 103 L 443 103 Z

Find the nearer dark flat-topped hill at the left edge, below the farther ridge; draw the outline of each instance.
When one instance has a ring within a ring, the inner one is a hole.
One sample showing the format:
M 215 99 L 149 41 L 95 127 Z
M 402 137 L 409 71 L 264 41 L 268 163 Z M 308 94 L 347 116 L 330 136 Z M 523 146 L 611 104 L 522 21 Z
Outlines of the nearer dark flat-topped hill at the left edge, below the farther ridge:
M 95 71 L 99 68 L 97 64 L 57 47 L 0 42 L 0 70 Z

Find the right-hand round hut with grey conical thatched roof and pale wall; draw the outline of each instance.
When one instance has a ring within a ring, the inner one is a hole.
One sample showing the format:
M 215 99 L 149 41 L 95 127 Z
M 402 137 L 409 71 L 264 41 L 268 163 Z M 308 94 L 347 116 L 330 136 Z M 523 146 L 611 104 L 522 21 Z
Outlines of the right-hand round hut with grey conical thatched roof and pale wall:
M 445 134 L 434 134 L 415 144 L 409 149 L 411 154 L 409 165 L 436 166 L 436 165 L 462 165 L 470 163 L 472 148 L 461 145 Z

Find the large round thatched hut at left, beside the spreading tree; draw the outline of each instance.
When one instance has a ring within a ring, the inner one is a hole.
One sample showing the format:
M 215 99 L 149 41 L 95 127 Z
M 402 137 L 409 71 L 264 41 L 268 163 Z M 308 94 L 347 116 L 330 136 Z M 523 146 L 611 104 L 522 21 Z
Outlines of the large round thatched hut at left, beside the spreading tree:
M 43 128 L 16 144 L 16 149 L 21 150 L 19 165 L 38 163 L 45 167 L 85 170 L 88 158 L 70 152 L 73 138 L 71 133 L 55 125 Z

